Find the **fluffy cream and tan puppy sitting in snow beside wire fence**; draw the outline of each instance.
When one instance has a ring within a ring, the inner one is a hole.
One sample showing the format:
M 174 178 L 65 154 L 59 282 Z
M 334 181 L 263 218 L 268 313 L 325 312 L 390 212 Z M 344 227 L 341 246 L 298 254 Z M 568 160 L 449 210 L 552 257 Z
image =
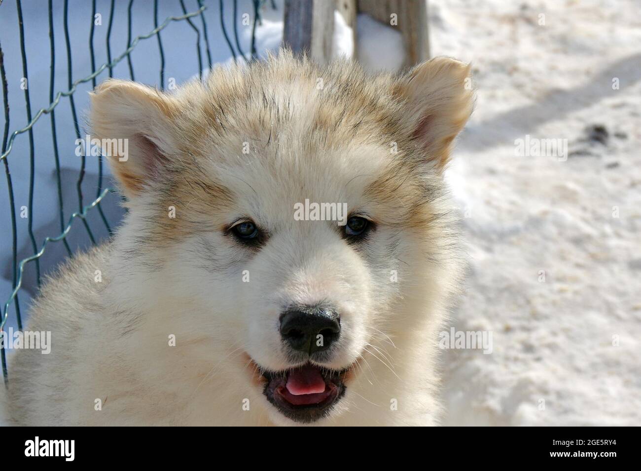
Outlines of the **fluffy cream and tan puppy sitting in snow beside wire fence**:
M 128 213 L 49 278 L 9 366 L 20 425 L 432 425 L 463 263 L 444 167 L 470 67 L 281 51 L 172 93 L 107 80 Z M 108 152 L 107 152 L 108 153 Z

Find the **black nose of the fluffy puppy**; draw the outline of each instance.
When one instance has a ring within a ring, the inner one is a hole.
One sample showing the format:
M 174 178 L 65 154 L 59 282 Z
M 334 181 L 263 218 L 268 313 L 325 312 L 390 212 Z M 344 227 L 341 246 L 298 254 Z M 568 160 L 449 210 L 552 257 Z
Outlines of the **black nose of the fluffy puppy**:
M 340 318 L 336 311 L 322 307 L 297 307 L 281 315 L 281 337 L 299 352 L 326 350 L 340 336 Z

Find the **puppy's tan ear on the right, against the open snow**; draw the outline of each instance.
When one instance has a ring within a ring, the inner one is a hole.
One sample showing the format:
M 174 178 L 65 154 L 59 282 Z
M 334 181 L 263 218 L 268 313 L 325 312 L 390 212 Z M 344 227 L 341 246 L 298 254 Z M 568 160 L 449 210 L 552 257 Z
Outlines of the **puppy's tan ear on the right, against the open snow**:
M 474 108 L 470 65 L 437 57 L 417 65 L 394 82 L 401 98 L 399 120 L 410 139 L 443 171 L 454 137 Z

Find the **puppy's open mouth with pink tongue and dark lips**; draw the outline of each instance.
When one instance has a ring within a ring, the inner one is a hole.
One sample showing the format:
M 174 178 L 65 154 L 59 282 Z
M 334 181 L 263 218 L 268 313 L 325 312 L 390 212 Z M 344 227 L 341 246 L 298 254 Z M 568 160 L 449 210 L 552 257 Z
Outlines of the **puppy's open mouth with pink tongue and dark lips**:
M 326 370 L 312 363 L 281 372 L 263 372 L 263 394 L 286 417 L 314 422 L 325 417 L 345 393 L 346 370 Z

